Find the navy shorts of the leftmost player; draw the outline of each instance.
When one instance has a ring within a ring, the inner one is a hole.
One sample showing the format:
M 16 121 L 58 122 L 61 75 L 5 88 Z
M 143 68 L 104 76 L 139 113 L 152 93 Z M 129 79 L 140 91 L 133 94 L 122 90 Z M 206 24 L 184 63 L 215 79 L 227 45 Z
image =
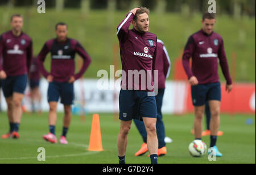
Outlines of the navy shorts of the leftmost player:
M 13 93 L 24 94 L 27 87 L 27 75 L 9 76 L 2 80 L 2 89 L 5 98 L 12 97 Z

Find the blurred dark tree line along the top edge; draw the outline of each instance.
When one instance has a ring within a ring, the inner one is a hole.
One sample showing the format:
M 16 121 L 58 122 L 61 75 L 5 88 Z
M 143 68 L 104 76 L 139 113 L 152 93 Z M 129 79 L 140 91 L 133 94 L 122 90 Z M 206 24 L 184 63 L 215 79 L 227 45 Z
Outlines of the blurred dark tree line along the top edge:
M 1 5 L 9 6 L 37 6 L 38 0 L 1 0 Z M 161 12 L 188 12 L 196 13 L 207 9 L 208 0 L 45 0 L 47 8 L 63 10 L 76 9 L 108 9 L 128 10 L 136 6 L 146 6 L 151 10 Z M 216 0 L 217 13 L 228 14 L 234 17 L 255 17 L 255 0 Z

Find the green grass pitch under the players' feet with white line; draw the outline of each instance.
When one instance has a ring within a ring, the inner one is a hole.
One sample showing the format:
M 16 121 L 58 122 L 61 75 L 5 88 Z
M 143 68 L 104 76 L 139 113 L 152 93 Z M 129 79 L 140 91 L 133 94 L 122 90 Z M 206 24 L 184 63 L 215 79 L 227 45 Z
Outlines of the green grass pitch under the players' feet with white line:
M 62 131 L 63 114 L 58 114 L 56 135 L 59 139 Z M 253 123 L 246 124 L 247 119 Z M 218 138 L 218 148 L 223 157 L 217 161 L 208 161 L 208 156 L 193 158 L 189 155 L 188 145 L 193 141 L 191 128 L 193 115 L 183 116 L 164 115 L 166 136 L 172 138 L 173 143 L 167 144 L 167 155 L 159 158 L 160 164 L 176 163 L 253 163 L 255 164 L 255 115 L 221 115 L 221 130 L 224 136 Z M 0 164 L 2 163 L 118 163 L 117 134 L 119 121 L 112 114 L 100 114 L 101 136 L 104 151 L 89 152 L 90 128 L 92 114 L 86 115 L 85 123 L 80 116 L 73 116 L 68 133 L 68 145 L 47 143 L 42 139 L 48 133 L 47 113 L 24 114 L 20 126 L 20 139 L 0 140 Z M 6 113 L 0 113 L 0 134 L 9 130 Z M 209 137 L 203 140 L 209 145 Z M 150 159 L 146 155 L 135 157 L 134 153 L 141 147 L 142 139 L 133 124 L 127 145 L 126 163 L 147 164 Z M 38 161 L 38 148 L 46 149 L 46 161 Z

